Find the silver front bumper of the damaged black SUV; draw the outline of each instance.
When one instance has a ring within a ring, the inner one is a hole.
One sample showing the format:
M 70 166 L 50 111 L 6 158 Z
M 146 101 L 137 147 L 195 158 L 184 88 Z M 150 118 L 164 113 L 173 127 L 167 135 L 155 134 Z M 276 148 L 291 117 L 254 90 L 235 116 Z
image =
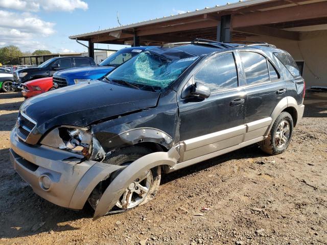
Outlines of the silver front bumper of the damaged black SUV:
M 56 205 L 82 209 L 96 185 L 121 166 L 82 161 L 82 156 L 48 146 L 20 141 L 16 128 L 10 134 L 10 160 L 14 169 L 40 197 Z M 41 179 L 50 178 L 45 189 Z

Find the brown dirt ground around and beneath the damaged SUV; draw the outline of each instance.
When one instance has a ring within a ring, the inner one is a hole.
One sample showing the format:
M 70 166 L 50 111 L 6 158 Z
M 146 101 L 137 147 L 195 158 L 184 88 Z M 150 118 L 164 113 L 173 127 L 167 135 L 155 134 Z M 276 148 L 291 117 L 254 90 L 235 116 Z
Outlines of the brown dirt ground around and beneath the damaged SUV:
M 23 99 L 0 93 L 0 244 L 327 244 L 327 100 L 306 100 L 288 150 L 251 145 L 163 176 L 157 197 L 92 221 L 39 198 L 12 169 Z

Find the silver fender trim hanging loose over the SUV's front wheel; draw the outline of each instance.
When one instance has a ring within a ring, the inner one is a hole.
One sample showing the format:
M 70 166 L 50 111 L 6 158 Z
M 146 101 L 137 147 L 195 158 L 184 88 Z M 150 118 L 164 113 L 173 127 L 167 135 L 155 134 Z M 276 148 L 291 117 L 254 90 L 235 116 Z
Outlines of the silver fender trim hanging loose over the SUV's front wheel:
M 168 152 L 151 153 L 132 162 L 107 187 L 98 203 L 93 220 L 100 218 L 112 209 L 128 185 L 135 179 L 145 175 L 149 169 L 156 166 L 168 165 L 173 167 L 178 159 L 177 150 L 171 148 Z

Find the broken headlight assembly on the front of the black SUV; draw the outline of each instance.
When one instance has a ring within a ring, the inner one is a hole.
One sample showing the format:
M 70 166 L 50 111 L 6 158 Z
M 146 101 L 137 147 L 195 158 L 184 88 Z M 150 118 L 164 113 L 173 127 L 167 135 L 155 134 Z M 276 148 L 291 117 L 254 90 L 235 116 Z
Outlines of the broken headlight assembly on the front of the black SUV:
M 45 135 L 41 144 L 89 158 L 92 151 L 92 134 L 89 133 L 88 128 L 59 127 Z

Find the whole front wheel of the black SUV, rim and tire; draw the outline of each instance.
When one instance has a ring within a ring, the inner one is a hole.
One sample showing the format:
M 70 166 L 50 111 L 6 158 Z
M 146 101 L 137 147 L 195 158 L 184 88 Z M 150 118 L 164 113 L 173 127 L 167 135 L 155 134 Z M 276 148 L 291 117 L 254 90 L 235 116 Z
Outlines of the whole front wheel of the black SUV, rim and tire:
M 152 153 L 152 151 L 142 146 L 131 146 L 112 153 L 110 158 L 104 160 L 104 163 L 129 165 L 138 158 L 150 153 Z M 94 210 L 96 209 L 103 192 L 106 190 L 111 181 L 119 175 L 119 173 L 120 170 L 112 173 L 107 180 L 100 182 L 91 192 L 88 202 Z M 155 194 L 159 188 L 160 179 L 160 166 L 149 169 L 146 175 L 140 176 L 138 179 L 135 179 L 129 184 L 120 199 L 116 202 L 113 210 L 128 210 L 149 202 L 155 197 Z

